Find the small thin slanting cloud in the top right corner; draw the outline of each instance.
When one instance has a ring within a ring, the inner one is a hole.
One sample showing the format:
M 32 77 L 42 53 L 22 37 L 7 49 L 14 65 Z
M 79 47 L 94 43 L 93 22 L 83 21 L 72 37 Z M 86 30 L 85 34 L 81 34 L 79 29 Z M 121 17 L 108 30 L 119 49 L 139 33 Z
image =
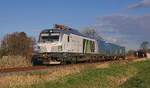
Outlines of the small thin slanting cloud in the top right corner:
M 145 7 L 145 6 L 150 6 L 150 0 L 143 0 L 137 4 L 128 6 L 128 8 L 126 10 L 131 10 L 131 9 L 135 9 L 135 8 L 141 8 L 141 7 Z

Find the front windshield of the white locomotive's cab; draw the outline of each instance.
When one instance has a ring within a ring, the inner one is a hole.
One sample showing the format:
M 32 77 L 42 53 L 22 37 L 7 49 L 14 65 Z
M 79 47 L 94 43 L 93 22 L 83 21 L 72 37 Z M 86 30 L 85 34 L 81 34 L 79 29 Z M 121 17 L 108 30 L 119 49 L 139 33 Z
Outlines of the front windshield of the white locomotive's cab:
M 54 42 L 59 41 L 59 33 L 41 34 L 40 42 Z

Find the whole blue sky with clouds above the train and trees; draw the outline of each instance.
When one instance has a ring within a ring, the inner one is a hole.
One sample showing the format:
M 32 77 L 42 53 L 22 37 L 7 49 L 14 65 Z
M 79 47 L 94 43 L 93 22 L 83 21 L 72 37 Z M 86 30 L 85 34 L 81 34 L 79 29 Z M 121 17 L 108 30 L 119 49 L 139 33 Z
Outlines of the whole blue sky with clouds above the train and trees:
M 150 43 L 150 0 L 0 0 L 0 39 L 22 31 L 38 38 L 53 24 L 95 28 L 107 42 L 138 49 Z

